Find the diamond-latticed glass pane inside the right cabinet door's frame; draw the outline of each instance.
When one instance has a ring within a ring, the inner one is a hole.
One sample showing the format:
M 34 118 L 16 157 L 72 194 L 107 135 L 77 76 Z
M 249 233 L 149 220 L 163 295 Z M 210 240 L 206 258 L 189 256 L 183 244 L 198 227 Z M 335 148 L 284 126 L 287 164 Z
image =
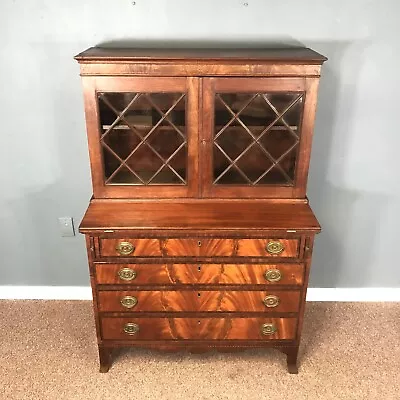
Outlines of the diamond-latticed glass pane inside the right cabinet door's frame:
M 302 93 L 217 93 L 214 184 L 292 186 L 302 112 Z

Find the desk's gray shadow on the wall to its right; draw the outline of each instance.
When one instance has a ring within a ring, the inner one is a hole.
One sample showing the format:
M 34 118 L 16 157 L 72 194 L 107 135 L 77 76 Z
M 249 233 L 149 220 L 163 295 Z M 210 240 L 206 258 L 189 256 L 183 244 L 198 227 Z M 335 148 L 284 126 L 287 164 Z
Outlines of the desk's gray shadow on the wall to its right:
M 308 186 L 311 206 L 322 225 L 322 233 L 316 239 L 310 286 L 379 286 L 374 281 L 374 257 L 379 248 L 380 215 L 387 199 L 346 188 L 352 157 L 349 152 L 354 149 L 351 125 L 358 73 L 368 43 L 307 45 L 329 58 L 322 69 Z M 334 176 L 331 171 L 335 171 Z

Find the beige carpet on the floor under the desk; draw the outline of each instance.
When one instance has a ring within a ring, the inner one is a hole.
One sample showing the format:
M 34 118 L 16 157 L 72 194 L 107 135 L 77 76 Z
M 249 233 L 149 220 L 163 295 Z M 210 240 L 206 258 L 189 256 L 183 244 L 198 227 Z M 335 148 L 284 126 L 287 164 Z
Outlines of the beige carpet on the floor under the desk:
M 90 302 L 0 301 L 0 399 L 400 399 L 400 303 L 308 303 L 299 375 L 275 350 L 122 350 L 98 373 Z

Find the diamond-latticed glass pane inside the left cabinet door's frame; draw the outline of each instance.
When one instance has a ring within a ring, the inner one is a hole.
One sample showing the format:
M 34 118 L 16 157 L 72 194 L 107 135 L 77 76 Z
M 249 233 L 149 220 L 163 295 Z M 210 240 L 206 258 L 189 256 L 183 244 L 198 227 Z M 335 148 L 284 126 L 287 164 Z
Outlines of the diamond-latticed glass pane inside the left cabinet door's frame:
M 186 185 L 185 94 L 99 93 L 106 184 Z

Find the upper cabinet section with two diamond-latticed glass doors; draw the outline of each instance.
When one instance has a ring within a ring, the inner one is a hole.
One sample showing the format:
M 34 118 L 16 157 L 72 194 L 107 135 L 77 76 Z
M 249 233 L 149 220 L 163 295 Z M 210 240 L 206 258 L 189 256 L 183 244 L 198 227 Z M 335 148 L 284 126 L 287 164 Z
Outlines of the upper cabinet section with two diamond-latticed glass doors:
M 77 59 L 95 197 L 305 197 L 322 56 L 92 51 Z

